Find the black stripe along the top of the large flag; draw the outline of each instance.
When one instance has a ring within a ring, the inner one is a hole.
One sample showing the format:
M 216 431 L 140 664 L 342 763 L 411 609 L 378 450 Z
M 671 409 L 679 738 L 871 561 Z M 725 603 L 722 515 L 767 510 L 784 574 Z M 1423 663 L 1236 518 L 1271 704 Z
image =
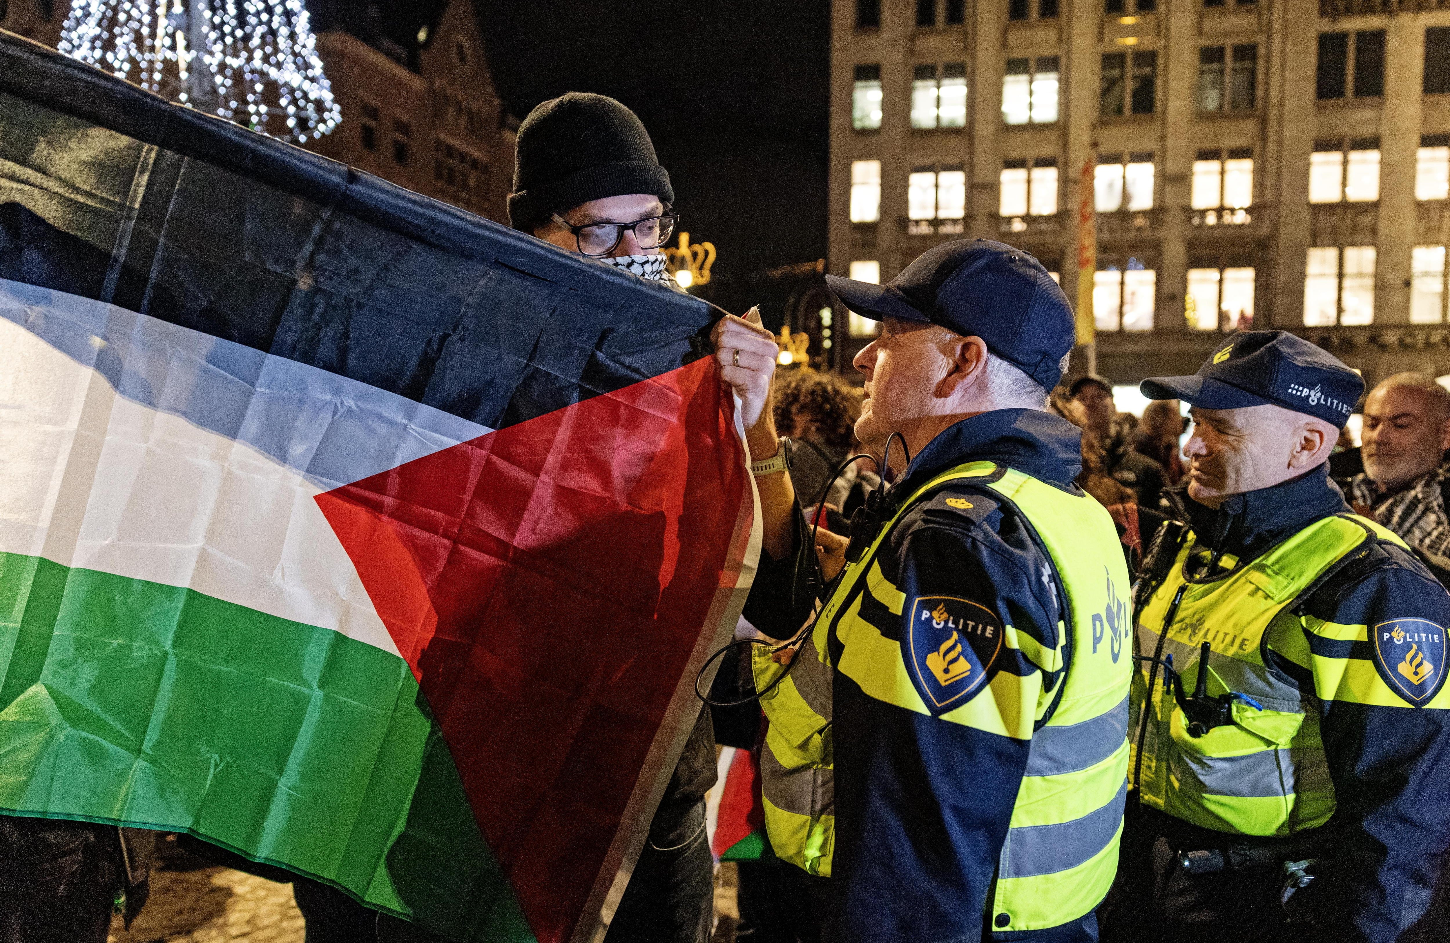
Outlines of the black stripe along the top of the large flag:
M 493 429 L 708 352 L 715 316 L 697 298 L 9 33 L 3 165 L 0 278 L 112 303 Z

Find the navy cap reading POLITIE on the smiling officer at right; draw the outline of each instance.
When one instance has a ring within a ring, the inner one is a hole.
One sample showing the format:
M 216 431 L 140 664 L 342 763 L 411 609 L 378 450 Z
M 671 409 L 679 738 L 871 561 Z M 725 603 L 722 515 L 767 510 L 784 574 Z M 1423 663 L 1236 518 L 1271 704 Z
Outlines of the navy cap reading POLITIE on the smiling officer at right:
M 1283 330 L 1243 330 L 1218 345 L 1192 377 L 1150 377 L 1150 400 L 1183 400 L 1205 410 L 1282 406 L 1343 429 L 1364 381 L 1337 356 Z

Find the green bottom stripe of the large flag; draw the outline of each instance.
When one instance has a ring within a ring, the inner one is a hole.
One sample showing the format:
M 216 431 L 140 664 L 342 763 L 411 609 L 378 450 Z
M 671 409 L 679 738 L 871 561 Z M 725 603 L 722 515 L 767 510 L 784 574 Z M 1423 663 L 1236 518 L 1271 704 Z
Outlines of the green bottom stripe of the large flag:
M 191 590 L 0 553 L 0 810 L 191 831 L 534 943 L 407 663 Z

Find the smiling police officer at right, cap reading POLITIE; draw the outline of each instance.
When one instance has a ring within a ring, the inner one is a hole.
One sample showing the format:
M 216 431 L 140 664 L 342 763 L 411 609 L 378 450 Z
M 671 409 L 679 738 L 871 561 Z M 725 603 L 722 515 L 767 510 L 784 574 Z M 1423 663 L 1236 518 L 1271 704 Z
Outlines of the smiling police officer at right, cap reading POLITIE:
M 1185 524 L 1137 588 L 1132 784 L 1103 939 L 1425 939 L 1450 842 L 1450 595 L 1325 459 L 1363 391 L 1241 332 L 1192 377 Z

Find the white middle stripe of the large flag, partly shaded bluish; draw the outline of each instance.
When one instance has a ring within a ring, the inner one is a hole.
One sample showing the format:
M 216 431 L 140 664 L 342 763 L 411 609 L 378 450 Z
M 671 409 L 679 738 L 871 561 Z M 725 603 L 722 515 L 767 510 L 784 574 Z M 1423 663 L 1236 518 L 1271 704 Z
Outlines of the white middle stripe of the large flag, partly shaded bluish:
M 248 387 L 216 368 L 216 349 L 196 356 L 177 343 L 204 335 L 61 293 L 17 304 L 14 285 L 0 282 L 0 550 L 190 587 L 397 653 L 315 498 L 339 472 L 352 481 L 487 430 L 209 339 L 260 358 Z M 81 335 L 77 314 L 97 307 L 109 309 L 104 330 Z M 116 327 L 125 317 L 129 332 Z M 42 323 L 48 330 L 35 329 Z M 86 348 L 93 362 L 112 358 L 110 369 L 84 362 Z M 309 422 L 341 385 L 354 388 L 334 422 Z M 225 398 L 244 390 L 238 413 Z M 228 414 L 245 439 L 216 429 Z

